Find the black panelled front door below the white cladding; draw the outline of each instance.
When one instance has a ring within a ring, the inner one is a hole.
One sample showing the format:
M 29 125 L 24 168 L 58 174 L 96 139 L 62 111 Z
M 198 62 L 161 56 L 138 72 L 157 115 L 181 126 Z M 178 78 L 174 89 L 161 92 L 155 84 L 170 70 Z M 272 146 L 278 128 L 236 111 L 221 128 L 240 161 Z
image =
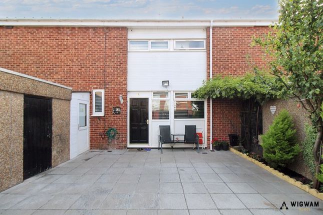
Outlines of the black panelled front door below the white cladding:
M 148 143 L 148 98 L 130 98 L 130 143 Z

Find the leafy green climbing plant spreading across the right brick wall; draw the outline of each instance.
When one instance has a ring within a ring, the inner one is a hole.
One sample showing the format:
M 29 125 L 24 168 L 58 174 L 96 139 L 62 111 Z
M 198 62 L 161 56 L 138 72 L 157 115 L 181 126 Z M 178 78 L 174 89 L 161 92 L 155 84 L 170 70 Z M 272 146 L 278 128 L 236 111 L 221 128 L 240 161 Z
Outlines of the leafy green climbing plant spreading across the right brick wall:
M 203 86 L 194 92 L 198 98 L 240 98 L 254 99 L 259 103 L 271 98 L 281 97 L 277 91 L 274 77 L 255 70 L 243 76 L 215 76 L 204 82 Z

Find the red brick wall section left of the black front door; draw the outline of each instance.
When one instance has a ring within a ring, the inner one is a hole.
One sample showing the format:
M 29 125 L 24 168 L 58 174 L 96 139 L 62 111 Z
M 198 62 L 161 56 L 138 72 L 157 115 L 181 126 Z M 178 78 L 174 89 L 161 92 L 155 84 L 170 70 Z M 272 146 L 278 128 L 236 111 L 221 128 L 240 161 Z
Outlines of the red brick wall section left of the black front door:
M 105 124 L 106 129 L 116 127 L 120 132 L 114 146 L 127 146 L 125 27 L 1 27 L 0 67 L 64 84 L 74 91 L 89 92 L 104 88 L 106 68 L 106 117 L 90 117 L 90 148 L 106 147 L 107 139 L 100 135 Z M 92 96 L 90 102 L 92 114 Z M 121 106 L 120 115 L 112 115 L 113 106 Z

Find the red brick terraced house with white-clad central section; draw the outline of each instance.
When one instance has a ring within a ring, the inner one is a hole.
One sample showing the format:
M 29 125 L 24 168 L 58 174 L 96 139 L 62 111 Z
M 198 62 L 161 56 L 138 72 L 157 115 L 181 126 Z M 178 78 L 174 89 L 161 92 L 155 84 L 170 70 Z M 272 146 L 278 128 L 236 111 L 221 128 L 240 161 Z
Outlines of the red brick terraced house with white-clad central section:
M 210 136 L 227 139 L 232 132 L 228 119 L 239 126 L 240 103 L 198 100 L 191 92 L 212 75 L 249 71 L 246 55 L 264 65 L 261 50 L 250 43 L 270 23 L 0 20 L 0 67 L 73 88 L 71 158 L 106 147 L 110 127 L 119 132 L 117 148 L 157 147 L 159 125 L 183 132 L 185 124 L 195 124 L 210 147 Z

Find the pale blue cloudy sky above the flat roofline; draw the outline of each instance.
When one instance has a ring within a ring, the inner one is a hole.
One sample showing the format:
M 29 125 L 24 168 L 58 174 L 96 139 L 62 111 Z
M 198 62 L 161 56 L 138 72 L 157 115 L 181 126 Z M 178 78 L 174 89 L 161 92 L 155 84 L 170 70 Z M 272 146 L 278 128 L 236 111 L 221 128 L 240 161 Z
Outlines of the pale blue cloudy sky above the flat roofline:
M 277 0 L 0 0 L 0 18 L 277 19 Z

